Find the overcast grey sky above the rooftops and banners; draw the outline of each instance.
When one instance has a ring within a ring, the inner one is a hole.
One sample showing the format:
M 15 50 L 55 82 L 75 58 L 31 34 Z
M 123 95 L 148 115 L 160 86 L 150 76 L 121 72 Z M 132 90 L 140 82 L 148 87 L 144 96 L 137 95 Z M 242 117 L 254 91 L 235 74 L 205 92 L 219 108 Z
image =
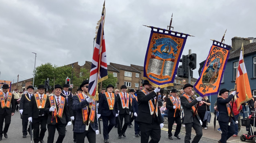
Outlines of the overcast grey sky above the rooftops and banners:
M 2 80 L 17 82 L 33 77 L 36 66 L 50 62 L 58 66 L 91 61 L 95 27 L 101 17 L 103 0 L 0 0 L 0 71 Z M 173 13 L 174 30 L 188 37 L 183 54 L 197 54 L 205 60 L 212 45 L 226 29 L 231 38 L 256 37 L 256 1 L 152 1 L 107 0 L 105 2 L 105 43 L 107 62 L 144 64 L 151 29 L 167 28 Z

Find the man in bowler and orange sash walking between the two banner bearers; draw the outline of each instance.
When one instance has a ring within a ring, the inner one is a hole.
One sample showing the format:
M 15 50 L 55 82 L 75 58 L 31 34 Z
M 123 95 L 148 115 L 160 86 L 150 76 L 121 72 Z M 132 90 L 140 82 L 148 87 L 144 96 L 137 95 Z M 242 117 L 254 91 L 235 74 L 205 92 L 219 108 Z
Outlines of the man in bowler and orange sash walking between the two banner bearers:
M 175 88 L 171 89 L 171 96 L 166 102 L 166 108 L 169 109 L 168 110 L 168 138 L 169 139 L 173 139 L 171 137 L 172 136 L 171 130 L 172 130 L 174 121 L 177 124 L 174 136 L 177 139 L 180 139 L 180 136 L 179 136 L 180 129 L 181 129 L 180 98 L 176 97 L 176 92 L 177 90 Z

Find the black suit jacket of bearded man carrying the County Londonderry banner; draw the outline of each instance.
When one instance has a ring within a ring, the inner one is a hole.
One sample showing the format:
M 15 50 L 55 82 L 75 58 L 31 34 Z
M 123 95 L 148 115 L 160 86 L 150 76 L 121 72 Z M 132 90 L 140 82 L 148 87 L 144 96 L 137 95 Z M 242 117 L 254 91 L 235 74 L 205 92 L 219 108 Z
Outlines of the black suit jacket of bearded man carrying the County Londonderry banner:
M 156 93 L 154 91 L 150 92 L 149 94 L 145 95 L 144 92 L 139 91 L 137 92 L 137 98 L 138 98 L 138 116 L 136 117 L 136 121 L 148 123 L 151 124 L 153 122 L 153 114 L 150 114 L 149 110 L 149 100 L 153 99 L 156 96 Z M 158 107 L 157 107 L 158 108 Z M 157 116 L 155 115 L 155 118 L 157 118 L 157 121 L 159 124 L 163 123 L 163 119 L 161 116 L 161 112 L 158 108 L 157 110 Z

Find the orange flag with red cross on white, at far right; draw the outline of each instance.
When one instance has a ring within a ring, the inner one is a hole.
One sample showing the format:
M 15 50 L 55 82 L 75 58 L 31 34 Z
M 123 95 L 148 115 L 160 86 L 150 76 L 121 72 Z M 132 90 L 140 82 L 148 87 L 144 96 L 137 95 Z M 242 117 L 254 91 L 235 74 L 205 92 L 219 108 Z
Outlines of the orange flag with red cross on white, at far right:
M 249 101 L 252 99 L 252 93 L 250 88 L 250 83 L 248 80 L 248 75 L 246 72 L 245 64 L 244 64 L 244 46 L 242 44 L 238 70 L 236 75 L 236 94 L 237 94 L 237 110 L 242 103 Z

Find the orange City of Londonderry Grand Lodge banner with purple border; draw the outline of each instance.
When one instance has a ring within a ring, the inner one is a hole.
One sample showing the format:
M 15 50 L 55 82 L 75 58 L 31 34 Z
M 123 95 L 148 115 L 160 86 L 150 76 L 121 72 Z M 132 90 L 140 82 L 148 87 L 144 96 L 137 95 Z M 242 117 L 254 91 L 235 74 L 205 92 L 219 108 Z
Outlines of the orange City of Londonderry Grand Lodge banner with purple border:
M 200 96 L 218 94 L 230 48 L 229 45 L 213 41 L 201 75 L 194 85 L 195 91 Z

